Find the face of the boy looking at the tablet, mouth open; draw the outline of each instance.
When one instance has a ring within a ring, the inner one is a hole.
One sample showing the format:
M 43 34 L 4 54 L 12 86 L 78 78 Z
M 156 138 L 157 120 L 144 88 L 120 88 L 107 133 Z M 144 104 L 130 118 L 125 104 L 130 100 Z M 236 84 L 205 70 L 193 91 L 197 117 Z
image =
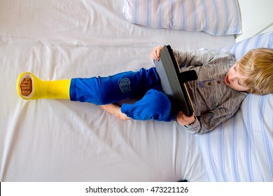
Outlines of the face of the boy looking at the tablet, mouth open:
M 238 91 L 246 91 L 249 89 L 246 85 L 244 85 L 244 80 L 246 80 L 246 76 L 241 75 L 238 72 L 239 64 L 235 64 L 228 70 L 227 76 L 225 76 L 225 84 L 229 87 L 232 87 Z

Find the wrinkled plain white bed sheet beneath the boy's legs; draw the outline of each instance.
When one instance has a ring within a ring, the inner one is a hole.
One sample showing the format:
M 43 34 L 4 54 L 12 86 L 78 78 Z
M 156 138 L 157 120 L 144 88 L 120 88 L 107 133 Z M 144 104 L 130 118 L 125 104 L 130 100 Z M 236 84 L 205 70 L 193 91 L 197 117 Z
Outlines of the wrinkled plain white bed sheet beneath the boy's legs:
M 16 79 L 108 76 L 151 67 L 156 45 L 223 48 L 234 36 L 132 25 L 123 0 L 0 1 L 1 181 L 206 181 L 195 137 L 122 121 L 98 106 L 20 99 Z

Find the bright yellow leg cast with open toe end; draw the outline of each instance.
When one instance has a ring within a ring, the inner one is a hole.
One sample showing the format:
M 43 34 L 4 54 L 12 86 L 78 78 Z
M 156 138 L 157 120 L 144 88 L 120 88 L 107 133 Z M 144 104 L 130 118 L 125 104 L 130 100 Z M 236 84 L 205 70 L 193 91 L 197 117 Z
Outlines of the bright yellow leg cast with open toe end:
M 21 83 L 25 78 L 31 79 L 32 91 L 29 95 L 22 94 Z M 17 91 L 22 99 L 70 99 L 69 88 L 71 79 L 41 80 L 32 73 L 21 73 L 17 80 Z

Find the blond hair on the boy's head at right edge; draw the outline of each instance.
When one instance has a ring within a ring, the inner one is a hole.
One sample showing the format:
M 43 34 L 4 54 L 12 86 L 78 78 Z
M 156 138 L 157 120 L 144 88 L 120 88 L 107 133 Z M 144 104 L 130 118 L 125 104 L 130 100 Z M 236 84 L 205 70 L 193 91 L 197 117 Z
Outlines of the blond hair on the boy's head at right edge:
M 249 50 L 239 62 L 238 71 L 248 79 L 244 85 L 247 92 L 269 94 L 273 92 L 273 49 L 257 48 Z

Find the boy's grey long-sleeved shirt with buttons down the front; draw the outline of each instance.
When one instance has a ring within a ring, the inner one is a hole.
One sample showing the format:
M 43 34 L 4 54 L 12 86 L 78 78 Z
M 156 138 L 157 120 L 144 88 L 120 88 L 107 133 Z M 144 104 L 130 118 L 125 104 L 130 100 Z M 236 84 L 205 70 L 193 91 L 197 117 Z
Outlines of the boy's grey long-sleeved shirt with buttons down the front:
M 186 130 L 192 134 L 209 132 L 235 115 L 247 93 L 225 85 L 226 73 L 236 63 L 231 54 L 218 50 L 174 50 L 174 55 L 181 71 L 193 69 L 198 76 L 187 83 L 196 119 L 185 126 Z

